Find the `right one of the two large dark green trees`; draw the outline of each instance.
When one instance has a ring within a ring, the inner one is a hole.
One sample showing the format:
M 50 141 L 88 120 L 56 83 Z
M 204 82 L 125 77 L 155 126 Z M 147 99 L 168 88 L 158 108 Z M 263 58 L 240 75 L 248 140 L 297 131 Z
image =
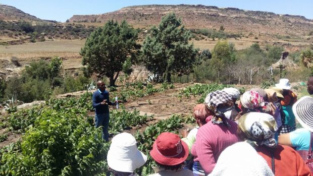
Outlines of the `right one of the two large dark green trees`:
M 196 62 L 198 49 L 188 44 L 190 31 L 174 13 L 162 18 L 158 27 L 152 27 L 145 38 L 142 59 L 147 69 L 171 82 L 171 74 L 189 74 Z

